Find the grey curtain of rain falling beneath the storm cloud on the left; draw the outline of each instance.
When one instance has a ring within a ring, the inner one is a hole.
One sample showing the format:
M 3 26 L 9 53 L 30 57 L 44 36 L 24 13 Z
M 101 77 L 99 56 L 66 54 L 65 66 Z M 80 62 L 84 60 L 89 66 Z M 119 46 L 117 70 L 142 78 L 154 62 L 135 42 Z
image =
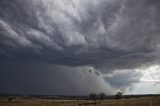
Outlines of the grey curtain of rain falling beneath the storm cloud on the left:
M 0 63 L 0 92 L 44 95 L 87 95 L 91 92 L 113 94 L 112 87 L 103 77 L 87 71 L 95 71 L 92 67 L 35 62 Z

